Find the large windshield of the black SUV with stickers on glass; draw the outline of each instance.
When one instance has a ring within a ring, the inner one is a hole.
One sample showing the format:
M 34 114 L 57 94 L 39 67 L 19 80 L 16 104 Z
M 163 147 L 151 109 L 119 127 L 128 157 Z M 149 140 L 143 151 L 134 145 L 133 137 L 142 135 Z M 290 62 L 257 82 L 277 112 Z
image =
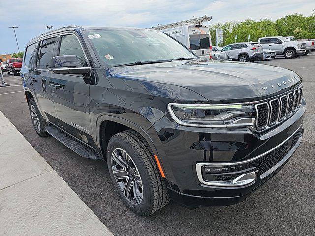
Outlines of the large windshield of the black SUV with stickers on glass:
M 95 53 L 106 66 L 178 58 L 196 58 L 166 34 L 146 29 L 88 30 Z

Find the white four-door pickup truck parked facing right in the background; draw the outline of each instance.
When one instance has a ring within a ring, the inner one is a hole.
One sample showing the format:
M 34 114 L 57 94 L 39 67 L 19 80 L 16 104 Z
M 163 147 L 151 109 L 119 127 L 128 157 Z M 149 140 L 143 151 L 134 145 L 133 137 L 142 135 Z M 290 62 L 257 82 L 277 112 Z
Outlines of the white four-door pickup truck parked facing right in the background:
M 259 38 L 258 43 L 264 49 L 271 49 L 277 54 L 283 54 L 285 58 L 295 58 L 306 53 L 305 42 L 289 41 L 282 36 Z

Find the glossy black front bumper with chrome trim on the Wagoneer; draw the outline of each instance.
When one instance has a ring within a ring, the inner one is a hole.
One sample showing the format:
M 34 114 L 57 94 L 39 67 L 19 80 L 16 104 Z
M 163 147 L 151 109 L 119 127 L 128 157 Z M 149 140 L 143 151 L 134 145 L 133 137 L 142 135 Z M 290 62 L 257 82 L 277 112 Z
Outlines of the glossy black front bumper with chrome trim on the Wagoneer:
M 162 118 L 151 129 L 158 132 L 158 140 L 153 141 L 170 196 L 189 207 L 243 201 L 274 176 L 298 148 L 305 110 L 303 100 L 292 117 L 262 133 L 247 128 L 184 127 L 174 125 L 167 116 Z M 285 152 L 280 153 L 280 147 Z M 259 163 L 268 158 L 271 164 Z M 238 169 L 240 165 L 244 166 Z M 206 172 L 205 168 L 218 166 L 236 169 L 219 174 Z

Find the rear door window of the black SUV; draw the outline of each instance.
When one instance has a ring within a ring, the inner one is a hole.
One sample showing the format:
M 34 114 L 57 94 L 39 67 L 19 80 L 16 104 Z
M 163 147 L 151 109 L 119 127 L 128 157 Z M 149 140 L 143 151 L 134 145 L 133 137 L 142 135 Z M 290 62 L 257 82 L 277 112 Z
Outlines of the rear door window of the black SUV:
M 40 42 L 37 58 L 37 68 L 48 69 L 48 62 L 53 57 L 55 38 L 45 39 Z

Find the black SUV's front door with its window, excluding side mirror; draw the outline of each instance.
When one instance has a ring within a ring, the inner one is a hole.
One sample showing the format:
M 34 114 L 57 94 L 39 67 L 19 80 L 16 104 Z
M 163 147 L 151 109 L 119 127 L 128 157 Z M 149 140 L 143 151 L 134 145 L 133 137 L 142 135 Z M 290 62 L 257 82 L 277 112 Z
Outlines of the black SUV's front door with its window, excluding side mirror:
M 57 55 L 78 56 L 84 66 L 88 60 L 79 35 L 65 33 L 60 36 Z M 90 122 L 90 78 L 75 74 L 52 74 L 53 100 L 60 127 L 81 141 L 93 145 Z

